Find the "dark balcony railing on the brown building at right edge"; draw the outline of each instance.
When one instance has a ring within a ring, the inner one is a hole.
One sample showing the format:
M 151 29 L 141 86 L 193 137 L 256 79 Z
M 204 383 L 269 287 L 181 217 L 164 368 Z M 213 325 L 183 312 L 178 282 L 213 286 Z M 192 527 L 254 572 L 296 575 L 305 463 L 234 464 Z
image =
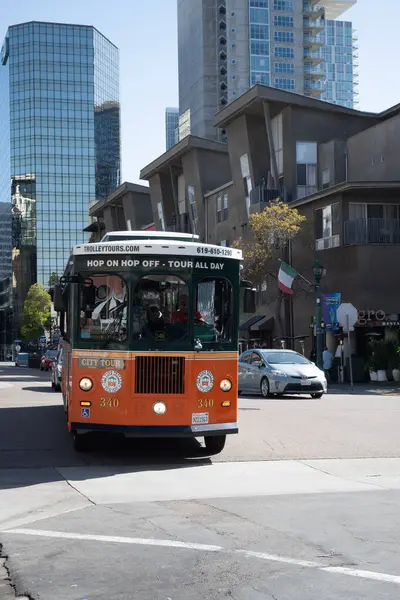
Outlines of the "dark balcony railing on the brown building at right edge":
M 397 219 L 353 219 L 344 223 L 344 243 L 400 244 L 400 221 Z

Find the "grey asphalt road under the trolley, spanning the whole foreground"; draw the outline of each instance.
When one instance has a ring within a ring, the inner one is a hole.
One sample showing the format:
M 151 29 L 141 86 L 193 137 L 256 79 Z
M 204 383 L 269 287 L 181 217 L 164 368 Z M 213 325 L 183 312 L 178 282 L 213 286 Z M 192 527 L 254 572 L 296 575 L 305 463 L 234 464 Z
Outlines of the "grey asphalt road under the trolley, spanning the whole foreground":
M 79 456 L 48 377 L 0 367 L 6 566 L 41 600 L 393 600 L 399 426 L 375 390 L 241 398 L 219 456 L 101 438 Z

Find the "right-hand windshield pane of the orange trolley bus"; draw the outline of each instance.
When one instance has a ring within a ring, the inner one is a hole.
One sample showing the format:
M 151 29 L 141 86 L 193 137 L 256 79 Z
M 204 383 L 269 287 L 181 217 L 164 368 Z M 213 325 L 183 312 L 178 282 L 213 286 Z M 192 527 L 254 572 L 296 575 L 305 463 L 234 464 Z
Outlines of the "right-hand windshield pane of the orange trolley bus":
M 197 284 L 195 337 L 201 342 L 233 341 L 232 285 L 221 277 L 207 277 Z

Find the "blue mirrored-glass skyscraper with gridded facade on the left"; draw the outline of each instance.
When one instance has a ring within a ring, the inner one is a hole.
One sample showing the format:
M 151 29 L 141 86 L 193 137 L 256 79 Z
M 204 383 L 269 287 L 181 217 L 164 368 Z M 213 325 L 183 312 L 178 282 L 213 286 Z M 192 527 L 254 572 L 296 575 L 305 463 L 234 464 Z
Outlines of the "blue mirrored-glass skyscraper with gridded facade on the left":
M 9 27 L 0 65 L 0 201 L 13 212 L 19 313 L 31 283 L 63 273 L 89 201 L 120 183 L 119 52 L 95 28 Z

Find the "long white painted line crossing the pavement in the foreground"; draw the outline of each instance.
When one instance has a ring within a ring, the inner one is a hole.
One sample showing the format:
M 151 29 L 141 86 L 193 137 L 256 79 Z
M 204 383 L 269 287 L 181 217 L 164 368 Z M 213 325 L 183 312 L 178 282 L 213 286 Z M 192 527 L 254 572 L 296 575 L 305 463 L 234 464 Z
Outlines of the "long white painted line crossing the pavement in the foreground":
M 322 563 L 317 563 L 309 560 L 301 560 L 290 558 L 288 556 L 278 556 L 276 554 L 268 554 L 266 552 L 254 552 L 252 550 L 229 550 L 222 546 L 213 546 L 209 544 L 195 544 L 191 542 L 181 542 L 175 540 L 161 539 L 145 539 L 131 538 L 113 535 L 92 535 L 88 533 L 66 533 L 64 531 L 48 531 L 46 529 L 6 529 L 3 533 L 30 535 L 35 537 L 47 537 L 67 540 L 86 540 L 91 542 L 106 542 L 117 544 L 131 544 L 136 546 L 161 546 L 168 548 L 183 548 L 186 550 L 198 550 L 200 552 L 223 552 L 226 554 L 240 554 L 245 558 L 258 558 L 268 562 L 282 563 L 293 565 L 295 567 L 304 567 L 307 569 L 317 569 L 325 573 L 333 573 L 336 575 L 348 575 L 350 577 L 359 577 L 361 579 L 370 579 L 374 581 L 382 581 L 386 583 L 395 583 L 400 585 L 399 575 L 390 575 L 389 573 L 377 573 L 375 571 L 364 571 L 362 569 L 352 569 L 349 567 L 326 567 Z

